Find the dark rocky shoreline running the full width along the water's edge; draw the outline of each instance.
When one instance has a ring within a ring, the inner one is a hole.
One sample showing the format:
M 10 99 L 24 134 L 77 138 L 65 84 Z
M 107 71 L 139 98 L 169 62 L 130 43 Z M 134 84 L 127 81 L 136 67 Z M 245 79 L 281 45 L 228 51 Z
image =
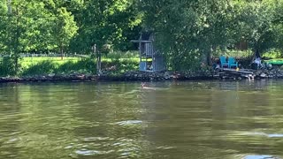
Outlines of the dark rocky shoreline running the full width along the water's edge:
M 23 77 L 0 77 L 0 83 L 8 82 L 45 82 L 45 81 L 168 81 L 168 80 L 241 80 L 249 79 L 239 74 L 232 74 L 226 77 L 219 76 L 221 71 L 199 71 L 199 72 L 125 72 L 119 74 L 104 73 L 95 74 L 48 74 Z M 280 70 L 254 70 L 253 79 L 283 79 L 283 71 Z

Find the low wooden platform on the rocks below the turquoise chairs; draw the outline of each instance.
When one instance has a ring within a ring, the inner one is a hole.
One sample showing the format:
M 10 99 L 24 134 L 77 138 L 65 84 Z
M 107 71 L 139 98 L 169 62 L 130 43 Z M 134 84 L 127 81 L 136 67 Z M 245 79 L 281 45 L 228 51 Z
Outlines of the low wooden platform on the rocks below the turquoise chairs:
M 236 70 L 236 69 L 228 69 L 223 68 L 218 72 L 218 76 L 220 79 L 254 79 L 255 73 L 249 70 Z

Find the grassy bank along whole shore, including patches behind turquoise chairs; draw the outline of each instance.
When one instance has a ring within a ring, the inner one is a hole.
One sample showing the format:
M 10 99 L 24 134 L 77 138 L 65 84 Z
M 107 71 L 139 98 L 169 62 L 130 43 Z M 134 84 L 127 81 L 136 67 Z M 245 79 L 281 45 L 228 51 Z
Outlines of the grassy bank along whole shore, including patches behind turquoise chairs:
M 25 55 L 25 57 L 21 57 L 19 59 L 19 67 L 17 72 L 12 69 L 15 65 L 10 57 L 0 57 L 0 76 L 29 76 L 45 75 L 50 73 L 96 74 L 96 60 L 90 56 L 64 57 L 61 59 L 61 57 L 50 57 L 50 55 L 42 55 L 42 57 L 38 55 L 30 55 Z M 224 55 L 226 57 L 236 57 L 239 64 L 241 64 L 241 68 L 249 68 L 249 64 L 254 57 L 254 53 L 251 50 L 227 50 L 224 52 L 218 51 L 213 57 L 215 57 L 215 60 L 218 60 L 220 55 Z M 280 52 L 273 51 L 263 54 L 263 57 L 280 57 L 280 55 Z M 139 53 L 136 51 L 112 52 L 106 57 L 102 58 L 102 71 L 113 75 L 128 71 L 138 71 L 139 60 Z M 280 59 L 279 62 L 282 63 L 282 59 Z M 211 68 L 202 67 L 201 63 L 199 63 L 200 65 L 197 64 L 195 71 L 198 71 L 200 68 L 201 70 L 210 70 Z M 172 70 L 169 69 L 169 71 Z

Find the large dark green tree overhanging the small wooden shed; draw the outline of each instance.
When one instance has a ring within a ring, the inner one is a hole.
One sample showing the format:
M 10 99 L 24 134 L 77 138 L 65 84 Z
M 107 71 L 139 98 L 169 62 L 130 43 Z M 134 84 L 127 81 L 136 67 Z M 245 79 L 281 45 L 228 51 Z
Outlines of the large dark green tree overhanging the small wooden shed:
M 226 0 L 143 0 L 140 6 L 145 25 L 156 32 L 157 45 L 177 70 L 188 69 L 200 57 L 210 57 L 211 49 L 228 42 L 228 27 L 233 26 Z

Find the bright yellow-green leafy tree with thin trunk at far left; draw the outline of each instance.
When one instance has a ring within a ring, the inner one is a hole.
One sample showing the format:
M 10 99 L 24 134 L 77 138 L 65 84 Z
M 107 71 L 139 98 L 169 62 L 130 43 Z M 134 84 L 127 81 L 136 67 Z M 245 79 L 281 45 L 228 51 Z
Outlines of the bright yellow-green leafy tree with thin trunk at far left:
M 14 72 L 19 68 L 20 53 L 63 50 L 76 34 L 77 26 L 71 13 L 53 4 L 52 0 L 1 2 L 0 46 L 11 55 Z

